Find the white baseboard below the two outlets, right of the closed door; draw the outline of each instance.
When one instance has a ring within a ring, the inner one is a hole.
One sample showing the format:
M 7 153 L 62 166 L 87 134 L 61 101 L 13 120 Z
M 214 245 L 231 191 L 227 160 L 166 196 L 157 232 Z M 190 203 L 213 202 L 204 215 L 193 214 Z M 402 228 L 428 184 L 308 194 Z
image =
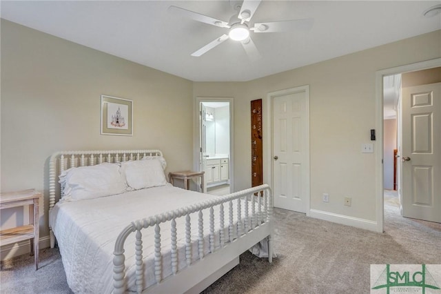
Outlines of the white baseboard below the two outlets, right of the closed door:
M 337 224 L 344 224 L 346 226 L 354 226 L 356 228 L 363 228 L 365 230 L 382 233 L 379 230 L 378 223 L 369 219 L 360 219 L 358 217 L 349 217 L 347 215 L 339 215 L 337 213 L 329 213 L 323 210 L 311 209 L 309 210 L 309 217 L 322 219 L 328 222 L 335 222 Z

